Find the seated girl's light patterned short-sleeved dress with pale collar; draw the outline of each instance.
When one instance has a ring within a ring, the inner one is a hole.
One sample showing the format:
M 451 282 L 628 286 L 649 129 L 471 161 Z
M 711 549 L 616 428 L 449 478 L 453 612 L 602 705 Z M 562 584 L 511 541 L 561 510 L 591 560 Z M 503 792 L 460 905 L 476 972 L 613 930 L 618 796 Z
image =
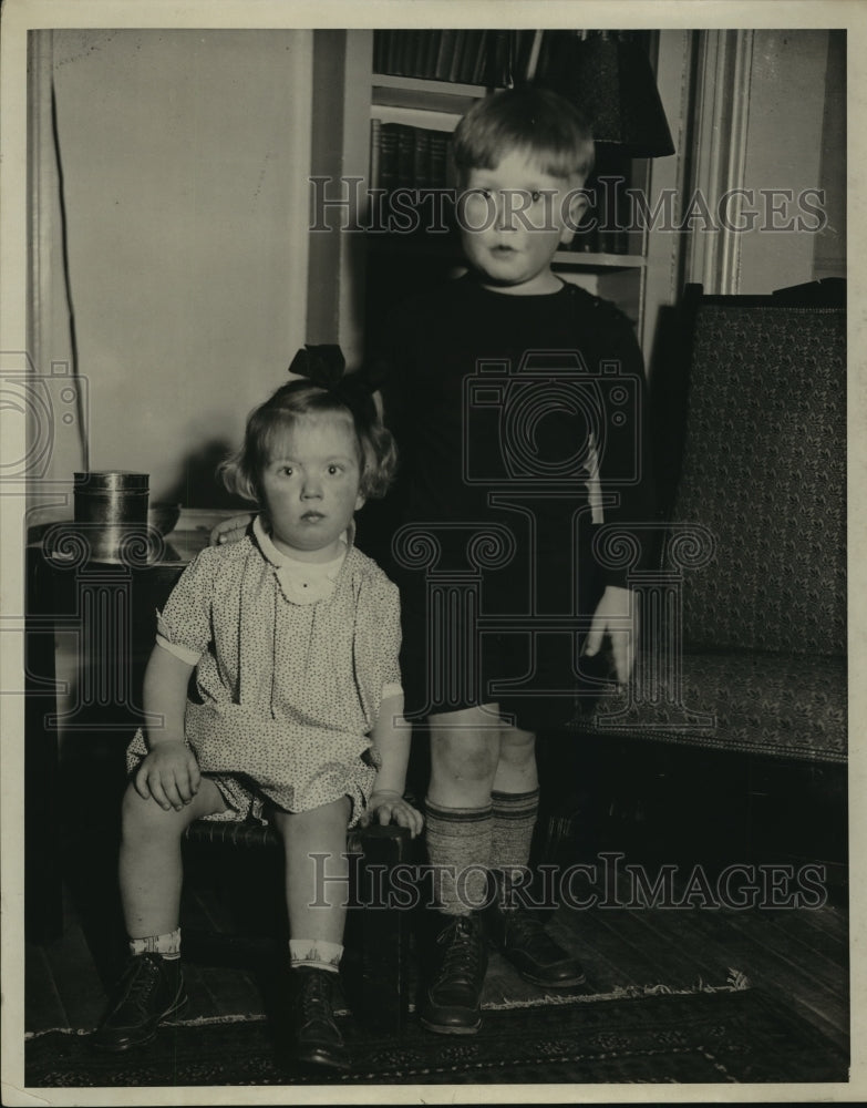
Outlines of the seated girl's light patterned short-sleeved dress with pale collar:
M 371 731 L 402 691 L 400 640 L 398 588 L 351 536 L 326 566 L 287 557 L 259 519 L 252 535 L 203 551 L 158 616 L 157 643 L 196 665 L 184 730 L 228 806 L 215 818 L 349 796 L 358 822 L 380 765 Z M 140 729 L 131 771 L 146 753 Z

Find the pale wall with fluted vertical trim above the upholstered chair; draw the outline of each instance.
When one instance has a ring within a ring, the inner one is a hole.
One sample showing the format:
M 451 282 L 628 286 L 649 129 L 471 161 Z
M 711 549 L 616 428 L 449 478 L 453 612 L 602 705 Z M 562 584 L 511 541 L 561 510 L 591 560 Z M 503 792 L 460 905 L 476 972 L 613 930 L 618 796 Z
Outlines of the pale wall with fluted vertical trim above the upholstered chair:
M 685 195 L 710 226 L 696 208 L 685 279 L 764 295 L 845 277 L 845 32 L 701 31 L 695 45 Z

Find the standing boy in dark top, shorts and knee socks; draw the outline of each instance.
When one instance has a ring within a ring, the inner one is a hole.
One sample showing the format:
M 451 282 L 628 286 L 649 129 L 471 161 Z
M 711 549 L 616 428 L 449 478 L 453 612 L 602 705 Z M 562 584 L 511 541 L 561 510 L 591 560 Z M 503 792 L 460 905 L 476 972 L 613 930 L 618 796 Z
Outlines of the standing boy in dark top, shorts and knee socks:
M 609 635 L 617 678 L 628 679 L 631 593 L 591 542 L 599 523 L 640 522 L 648 506 L 632 328 L 551 270 L 587 204 L 587 124 L 551 92 L 500 92 L 461 121 L 454 160 L 468 273 L 396 311 L 379 360 L 400 523 L 427 536 L 441 581 L 481 578 L 475 616 L 496 623 L 461 656 L 450 644 L 472 639 L 463 617 L 432 602 L 433 576 L 396 544 L 407 715 L 425 717 L 430 735 L 440 923 L 419 1010 L 431 1030 L 473 1034 L 488 938 L 541 987 L 584 981 L 516 895 L 538 812 L 535 731 L 570 717 L 581 646 L 595 655 Z M 508 550 L 479 570 L 469 540 L 485 527 Z M 576 623 L 555 626 L 588 613 L 586 638 Z

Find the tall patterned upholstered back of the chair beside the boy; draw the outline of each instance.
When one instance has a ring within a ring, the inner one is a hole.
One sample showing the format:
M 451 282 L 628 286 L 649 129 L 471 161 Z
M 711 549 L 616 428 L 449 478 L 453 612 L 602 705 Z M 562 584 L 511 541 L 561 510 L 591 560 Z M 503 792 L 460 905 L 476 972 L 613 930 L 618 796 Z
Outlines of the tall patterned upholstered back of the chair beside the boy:
M 672 520 L 715 550 L 684 646 L 845 654 L 845 309 L 709 296 L 693 326 Z

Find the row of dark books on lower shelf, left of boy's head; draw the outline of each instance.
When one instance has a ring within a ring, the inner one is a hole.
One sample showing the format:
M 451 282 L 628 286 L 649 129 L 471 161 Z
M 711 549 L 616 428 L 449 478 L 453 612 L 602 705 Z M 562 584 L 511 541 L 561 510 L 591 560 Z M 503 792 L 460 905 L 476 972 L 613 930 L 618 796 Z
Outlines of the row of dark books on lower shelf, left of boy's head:
M 407 123 L 370 121 L 372 188 L 450 188 L 452 135 Z

